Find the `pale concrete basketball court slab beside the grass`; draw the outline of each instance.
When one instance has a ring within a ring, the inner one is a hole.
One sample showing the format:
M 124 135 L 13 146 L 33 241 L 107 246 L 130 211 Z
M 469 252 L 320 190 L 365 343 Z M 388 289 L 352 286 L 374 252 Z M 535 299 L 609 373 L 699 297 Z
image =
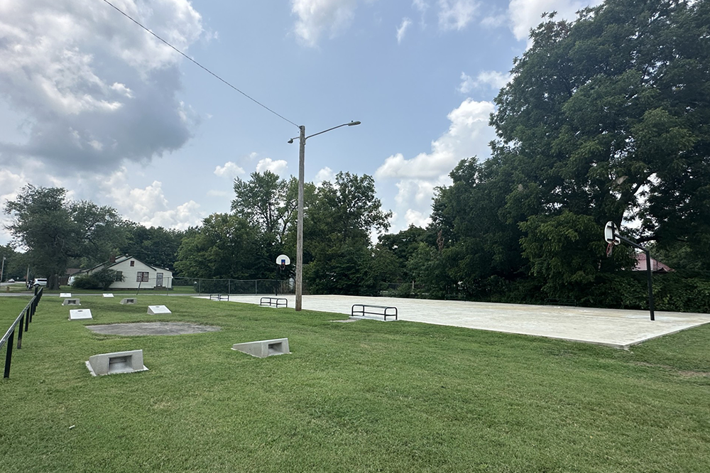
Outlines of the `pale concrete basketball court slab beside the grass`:
M 293 307 L 294 296 L 283 295 Z M 232 302 L 259 303 L 258 295 L 232 295 Z M 595 309 L 557 305 L 474 303 L 460 300 L 367 298 L 352 295 L 304 295 L 303 309 L 350 315 L 353 304 L 392 305 L 399 320 L 451 325 L 494 332 L 535 335 L 628 348 L 710 322 L 710 314 Z

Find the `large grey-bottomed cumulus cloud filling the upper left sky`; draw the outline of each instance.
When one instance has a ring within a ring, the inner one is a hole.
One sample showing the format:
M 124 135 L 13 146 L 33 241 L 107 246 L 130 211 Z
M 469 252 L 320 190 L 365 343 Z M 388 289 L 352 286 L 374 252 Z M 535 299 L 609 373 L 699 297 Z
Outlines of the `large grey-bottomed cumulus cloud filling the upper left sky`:
M 181 50 L 202 33 L 187 0 L 119 6 Z M 103 2 L 1 2 L 0 90 L 30 125 L 25 143 L 0 142 L 0 164 L 38 158 L 68 174 L 180 148 L 197 116 L 175 97 L 179 64 Z

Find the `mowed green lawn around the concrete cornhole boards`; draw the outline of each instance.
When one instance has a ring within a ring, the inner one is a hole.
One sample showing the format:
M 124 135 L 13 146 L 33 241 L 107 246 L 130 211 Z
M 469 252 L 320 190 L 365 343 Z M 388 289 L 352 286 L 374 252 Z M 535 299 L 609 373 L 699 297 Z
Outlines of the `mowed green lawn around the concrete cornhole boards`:
M 707 472 L 710 327 L 630 351 L 138 296 L 46 297 L 0 381 L 1 472 Z M 6 326 L 23 304 L 0 298 Z M 172 315 L 147 315 L 165 304 Z M 11 312 L 11 313 L 10 313 Z M 195 335 L 84 325 L 187 321 Z M 257 359 L 231 345 L 288 337 Z M 99 353 L 149 371 L 92 377 Z M 0 359 L 4 359 L 3 356 Z

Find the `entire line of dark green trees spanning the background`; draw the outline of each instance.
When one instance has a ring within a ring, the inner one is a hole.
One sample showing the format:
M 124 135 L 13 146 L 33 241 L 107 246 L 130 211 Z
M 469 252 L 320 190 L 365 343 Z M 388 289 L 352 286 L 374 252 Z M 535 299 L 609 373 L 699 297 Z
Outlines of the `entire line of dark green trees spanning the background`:
M 495 99 L 491 158 L 458 163 L 427 227 L 388 233 L 371 176 L 305 185 L 308 291 L 645 308 L 632 249 L 606 256 L 611 220 L 674 269 L 655 278 L 657 308 L 710 312 L 710 2 L 549 13 L 530 39 Z M 252 173 L 231 212 L 185 232 L 62 189 L 28 186 L 5 210 L 50 273 L 120 252 L 189 277 L 274 278 L 275 256 L 295 255 L 296 197 L 295 178 Z

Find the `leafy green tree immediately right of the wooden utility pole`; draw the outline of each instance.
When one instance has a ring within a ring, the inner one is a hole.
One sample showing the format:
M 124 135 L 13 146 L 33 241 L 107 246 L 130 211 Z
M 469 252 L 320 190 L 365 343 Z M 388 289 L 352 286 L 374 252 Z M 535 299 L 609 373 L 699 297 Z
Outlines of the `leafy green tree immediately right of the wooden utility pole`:
M 304 278 L 312 292 L 372 293 L 370 234 L 389 227 L 369 175 L 338 173 L 317 188 L 304 221 Z

